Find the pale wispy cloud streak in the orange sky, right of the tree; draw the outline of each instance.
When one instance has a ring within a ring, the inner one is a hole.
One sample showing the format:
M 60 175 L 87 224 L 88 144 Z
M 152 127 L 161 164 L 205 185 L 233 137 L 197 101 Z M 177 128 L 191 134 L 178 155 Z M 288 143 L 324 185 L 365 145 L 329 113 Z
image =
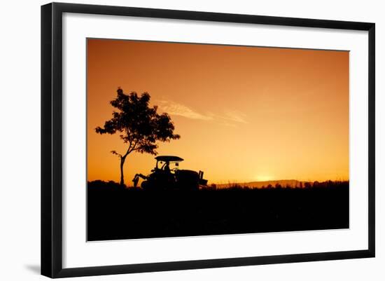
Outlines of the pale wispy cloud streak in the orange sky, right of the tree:
M 184 104 L 171 102 L 168 100 L 160 100 L 158 102 L 160 111 L 165 111 L 167 114 L 183 116 L 185 118 L 202 120 L 202 121 L 214 121 L 222 125 L 233 126 L 235 123 L 246 124 L 246 115 L 239 111 L 227 110 L 224 114 L 214 114 L 213 112 L 198 112 Z

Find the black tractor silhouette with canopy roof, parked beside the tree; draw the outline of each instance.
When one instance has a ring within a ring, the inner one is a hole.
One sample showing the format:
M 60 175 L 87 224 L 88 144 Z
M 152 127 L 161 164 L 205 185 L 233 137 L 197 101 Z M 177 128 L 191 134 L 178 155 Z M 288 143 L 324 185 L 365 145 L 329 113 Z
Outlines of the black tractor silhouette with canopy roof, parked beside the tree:
M 157 156 L 156 165 L 151 174 L 135 174 L 134 187 L 137 187 L 139 178 L 144 179 L 141 188 L 148 191 L 182 190 L 194 191 L 200 186 L 207 185 L 207 179 L 203 179 L 203 172 L 192 170 L 179 170 L 179 163 L 183 161 L 178 156 Z M 171 168 L 170 165 L 173 165 Z

